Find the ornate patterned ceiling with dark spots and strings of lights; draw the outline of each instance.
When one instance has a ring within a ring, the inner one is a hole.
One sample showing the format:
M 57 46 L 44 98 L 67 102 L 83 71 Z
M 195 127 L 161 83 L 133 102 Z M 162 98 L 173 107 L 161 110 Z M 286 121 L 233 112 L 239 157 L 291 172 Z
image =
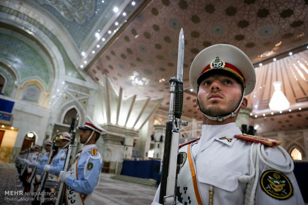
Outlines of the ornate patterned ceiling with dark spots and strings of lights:
M 116 90 L 123 88 L 126 98 L 164 97 L 160 105 L 164 110 L 169 106 L 168 80 L 176 75 L 178 35 L 183 28 L 183 115 L 197 120 L 201 115 L 196 95 L 190 92 L 190 64 L 208 46 L 234 45 L 256 67 L 256 88 L 247 97 L 253 108 L 251 124 L 260 125 L 260 132 L 308 126 L 308 1 L 81 0 L 74 4 L 65 0 L 71 6 L 52 0 L 0 2 L 2 22 L 15 26 L 26 21 L 23 26 L 34 33 L 37 28 L 47 29 L 79 72 L 94 81 L 108 76 Z M 291 111 L 280 113 L 268 107 L 277 80 L 283 83 Z

